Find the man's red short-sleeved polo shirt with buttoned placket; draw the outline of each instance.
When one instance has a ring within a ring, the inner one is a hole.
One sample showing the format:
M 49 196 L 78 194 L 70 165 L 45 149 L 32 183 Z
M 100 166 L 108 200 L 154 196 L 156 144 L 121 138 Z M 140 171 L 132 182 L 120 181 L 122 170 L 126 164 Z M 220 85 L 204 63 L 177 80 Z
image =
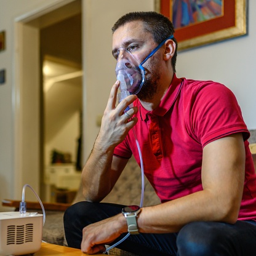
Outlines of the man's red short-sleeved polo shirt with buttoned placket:
M 213 81 L 178 79 L 175 74 L 159 106 L 147 111 L 139 100 L 134 127 L 145 175 L 161 202 L 202 190 L 202 149 L 207 143 L 242 132 L 246 146 L 246 180 L 239 219 L 256 218 L 256 177 L 249 151 L 249 131 L 230 89 Z M 134 157 L 140 165 L 130 130 L 114 155 Z

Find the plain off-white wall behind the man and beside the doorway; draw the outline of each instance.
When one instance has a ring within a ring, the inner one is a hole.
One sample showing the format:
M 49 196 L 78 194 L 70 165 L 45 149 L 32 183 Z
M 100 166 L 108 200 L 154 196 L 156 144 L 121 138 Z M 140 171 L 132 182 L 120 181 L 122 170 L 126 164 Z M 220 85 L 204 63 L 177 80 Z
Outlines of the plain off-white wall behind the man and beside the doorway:
M 64 0 L 63 0 L 64 1 Z M 14 20 L 20 15 L 62 0 L 0 0 L 0 31 L 6 30 L 7 49 L 0 53 L 0 69 L 5 68 L 7 82 L 0 86 L 0 200 L 14 197 Z M 83 0 L 84 61 L 84 159 L 90 153 L 98 133 L 96 119 L 102 114 L 114 77 L 111 56 L 111 26 L 126 12 L 153 10 L 153 0 Z M 219 42 L 178 54 L 177 75 L 194 79 L 212 79 L 233 90 L 241 105 L 249 129 L 256 128 L 254 112 L 256 88 L 256 1 L 250 1 L 249 34 L 243 38 Z M 6 210 L 0 207 L 0 210 Z

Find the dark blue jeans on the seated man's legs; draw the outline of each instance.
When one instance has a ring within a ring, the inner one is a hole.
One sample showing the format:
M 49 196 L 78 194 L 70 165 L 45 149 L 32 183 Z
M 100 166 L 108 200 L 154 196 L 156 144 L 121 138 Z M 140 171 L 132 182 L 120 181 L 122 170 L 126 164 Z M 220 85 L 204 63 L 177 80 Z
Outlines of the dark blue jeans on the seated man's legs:
M 119 204 L 78 202 L 68 208 L 64 215 L 68 246 L 80 249 L 82 228 L 119 214 L 122 207 Z M 256 222 L 238 221 L 234 225 L 221 222 L 192 222 L 178 233 L 130 235 L 117 247 L 146 256 L 255 256 Z

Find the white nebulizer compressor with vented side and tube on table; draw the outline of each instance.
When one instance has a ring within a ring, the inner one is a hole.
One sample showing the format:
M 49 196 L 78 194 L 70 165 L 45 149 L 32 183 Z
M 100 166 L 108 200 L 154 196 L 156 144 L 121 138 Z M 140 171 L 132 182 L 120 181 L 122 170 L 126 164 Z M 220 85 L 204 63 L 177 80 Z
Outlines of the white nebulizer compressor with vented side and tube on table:
M 29 185 L 25 185 L 29 186 Z M 34 254 L 41 248 L 42 226 L 45 221 L 45 211 L 42 202 L 36 194 L 43 214 L 26 212 L 24 191 L 19 212 L 0 212 L 0 255 Z

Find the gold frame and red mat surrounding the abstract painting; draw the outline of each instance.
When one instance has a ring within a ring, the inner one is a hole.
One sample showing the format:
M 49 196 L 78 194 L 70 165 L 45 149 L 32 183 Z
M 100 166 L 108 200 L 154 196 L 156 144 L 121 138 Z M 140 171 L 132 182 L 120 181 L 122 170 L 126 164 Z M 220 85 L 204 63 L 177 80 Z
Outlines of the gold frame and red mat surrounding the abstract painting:
M 155 10 L 172 20 L 174 1 L 155 0 Z M 185 50 L 245 34 L 247 34 L 247 0 L 223 0 L 221 17 L 185 28 L 175 28 L 174 36 L 178 41 L 178 50 Z

